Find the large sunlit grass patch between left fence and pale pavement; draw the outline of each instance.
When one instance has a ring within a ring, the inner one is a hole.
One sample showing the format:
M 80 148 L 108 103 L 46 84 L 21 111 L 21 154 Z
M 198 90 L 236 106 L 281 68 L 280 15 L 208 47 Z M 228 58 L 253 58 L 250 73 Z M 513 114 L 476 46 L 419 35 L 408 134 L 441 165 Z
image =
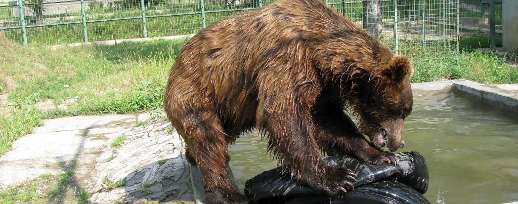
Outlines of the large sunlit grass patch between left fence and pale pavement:
M 25 48 L 0 32 L 0 91 L 6 79 L 16 83 L 7 103 L 16 104 L 0 115 L 0 155 L 41 119 L 85 114 L 137 113 L 162 108 L 164 87 L 186 39 L 127 42 L 115 46 L 82 46 L 49 51 Z M 68 84 L 69 88 L 64 88 Z M 67 110 L 45 113 L 27 106 L 42 100 L 79 96 Z

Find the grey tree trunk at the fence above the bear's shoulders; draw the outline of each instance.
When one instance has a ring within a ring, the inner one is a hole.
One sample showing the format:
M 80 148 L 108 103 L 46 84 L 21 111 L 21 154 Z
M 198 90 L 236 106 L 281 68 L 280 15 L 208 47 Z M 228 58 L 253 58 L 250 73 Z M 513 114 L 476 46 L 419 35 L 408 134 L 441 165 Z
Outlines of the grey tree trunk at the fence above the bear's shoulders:
M 363 0 L 362 26 L 363 30 L 373 36 L 381 33 L 381 0 Z

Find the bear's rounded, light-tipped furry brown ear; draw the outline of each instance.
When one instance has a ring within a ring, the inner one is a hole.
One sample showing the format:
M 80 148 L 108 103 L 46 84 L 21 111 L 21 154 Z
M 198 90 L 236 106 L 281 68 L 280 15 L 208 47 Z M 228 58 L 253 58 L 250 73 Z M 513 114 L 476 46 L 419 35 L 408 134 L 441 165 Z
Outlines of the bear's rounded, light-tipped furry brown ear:
M 406 76 L 411 78 L 414 74 L 414 68 L 408 57 L 396 55 L 392 57 L 389 67 L 383 71 L 383 74 L 392 82 L 400 82 L 405 79 Z

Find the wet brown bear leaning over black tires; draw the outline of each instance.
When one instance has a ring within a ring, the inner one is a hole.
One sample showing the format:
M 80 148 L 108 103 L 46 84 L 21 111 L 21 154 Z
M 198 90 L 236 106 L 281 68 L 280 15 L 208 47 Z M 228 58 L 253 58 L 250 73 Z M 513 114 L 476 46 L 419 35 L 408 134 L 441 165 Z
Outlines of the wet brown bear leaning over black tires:
M 253 128 L 293 179 L 331 196 L 355 174 L 324 164 L 350 155 L 395 165 L 412 111 L 412 66 L 319 0 L 283 0 L 199 31 L 170 71 L 165 109 L 188 144 L 210 203 L 243 203 L 226 164 L 227 147 Z M 344 108 L 359 116 L 358 128 Z M 371 142 L 365 139 L 368 135 Z

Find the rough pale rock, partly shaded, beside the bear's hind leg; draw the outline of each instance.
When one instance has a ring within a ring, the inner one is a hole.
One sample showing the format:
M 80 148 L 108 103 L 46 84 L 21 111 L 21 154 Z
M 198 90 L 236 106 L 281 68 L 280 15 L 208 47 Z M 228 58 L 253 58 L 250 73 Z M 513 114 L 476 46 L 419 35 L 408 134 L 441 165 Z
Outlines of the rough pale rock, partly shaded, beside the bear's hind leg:
M 183 141 L 178 133 L 166 135 L 170 124 L 156 123 L 134 129 L 128 140 L 113 152 L 117 157 L 97 166 L 97 186 L 105 178 L 112 182 L 125 180 L 125 186 L 92 195 L 92 203 L 113 203 L 122 199 L 154 201 L 193 200 L 189 165 L 183 157 Z M 105 155 L 106 156 L 106 155 Z M 158 163 L 167 159 L 162 165 Z

